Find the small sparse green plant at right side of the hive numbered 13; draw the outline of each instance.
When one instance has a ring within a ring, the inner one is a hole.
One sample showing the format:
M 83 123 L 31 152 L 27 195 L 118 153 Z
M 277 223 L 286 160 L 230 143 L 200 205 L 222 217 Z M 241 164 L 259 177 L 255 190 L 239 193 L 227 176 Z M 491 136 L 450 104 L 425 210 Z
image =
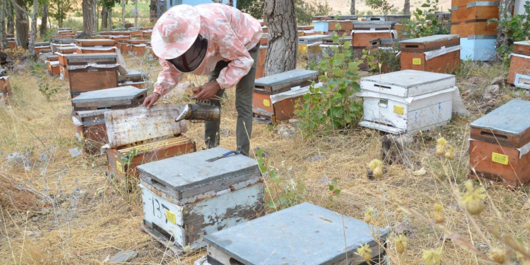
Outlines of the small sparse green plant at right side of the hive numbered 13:
M 263 159 L 263 149 L 256 152 L 258 166 L 263 177 L 269 177 L 272 183 L 266 185 L 266 195 L 269 195 L 270 201 L 267 207 L 280 210 L 299 204 L 305 196 L 305 187 L 301 182 L 295 182 L 293 179 L 282 179 L 276 173 L 276 170 L 269 169 Z

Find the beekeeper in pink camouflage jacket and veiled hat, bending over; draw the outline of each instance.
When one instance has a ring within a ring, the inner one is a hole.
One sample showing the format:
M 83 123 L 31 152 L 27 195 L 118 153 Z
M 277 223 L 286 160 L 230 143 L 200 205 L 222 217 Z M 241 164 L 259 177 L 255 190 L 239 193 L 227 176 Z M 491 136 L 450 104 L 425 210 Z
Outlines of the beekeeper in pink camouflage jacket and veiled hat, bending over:
M 252 132 L 252 90 L 261 25 L 251 15 L 223 4 L 176 5 L 156 22 L 151 46 L 162 71 L 144 106 L 151 106 L 173 89 L 185 73 L 209 75 L 197 99 L 222 96 L 235 85 L 236 137 L 241 153 L 249 155 Z M 220 107 L 220 106 L 219 106 Z M 220 121 L 205 124 L 208 148 L 219 145 Z M 235 149 L 235 148 L 234 148 Z

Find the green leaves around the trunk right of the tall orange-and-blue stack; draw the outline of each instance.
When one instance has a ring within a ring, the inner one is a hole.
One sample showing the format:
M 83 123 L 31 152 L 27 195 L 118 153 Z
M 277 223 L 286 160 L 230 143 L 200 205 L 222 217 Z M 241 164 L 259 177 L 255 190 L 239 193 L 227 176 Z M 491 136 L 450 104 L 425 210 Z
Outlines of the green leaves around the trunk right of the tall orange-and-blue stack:
M 502 14 L 502 20 L 490 19 L 488 23 L 497 23 L 497 32 L 505 36 L 504 43 L 497 48 L 497 53 L 501 60 L 509 65 L 509 55 L 514 50 L 514 42 L 525 40 L 530 36 L 530 2 L 525 2 L 525 14 L 514 16 L 509 15 L 506 11 L 499 10 Z

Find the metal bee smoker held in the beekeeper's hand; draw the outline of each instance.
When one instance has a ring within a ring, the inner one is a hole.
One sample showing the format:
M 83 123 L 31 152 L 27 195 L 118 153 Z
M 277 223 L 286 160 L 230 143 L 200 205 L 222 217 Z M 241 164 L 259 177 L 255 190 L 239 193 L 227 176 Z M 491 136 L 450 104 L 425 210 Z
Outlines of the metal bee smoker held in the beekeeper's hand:
M 184 105 L 175 121 L 216 121 L 221 117 L 220 99 L 195 100 L 195 104 Z

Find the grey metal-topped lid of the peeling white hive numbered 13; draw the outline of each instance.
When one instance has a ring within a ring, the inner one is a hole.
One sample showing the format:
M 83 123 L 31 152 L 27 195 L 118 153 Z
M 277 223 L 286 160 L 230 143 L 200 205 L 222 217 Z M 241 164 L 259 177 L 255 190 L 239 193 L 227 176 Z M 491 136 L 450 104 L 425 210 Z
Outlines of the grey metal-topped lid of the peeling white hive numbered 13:
M 143 181 L 162 184 L 162 190 L 174 191 L 178 199 L 188 197 L 183 194 L 186 191 L 194 190 L 191 195 L 197 195 L 230 188 L 224 184 L 232 180 L 237 180 L 236 184 L 260 178 L 258 162 L 242 154 L 206 161 L 227 152 L 226 148 L 215 147 L 143 164 L 137 169 Z

